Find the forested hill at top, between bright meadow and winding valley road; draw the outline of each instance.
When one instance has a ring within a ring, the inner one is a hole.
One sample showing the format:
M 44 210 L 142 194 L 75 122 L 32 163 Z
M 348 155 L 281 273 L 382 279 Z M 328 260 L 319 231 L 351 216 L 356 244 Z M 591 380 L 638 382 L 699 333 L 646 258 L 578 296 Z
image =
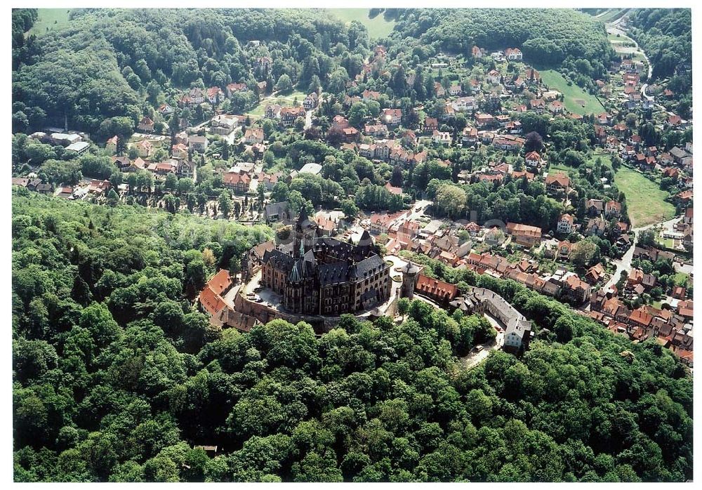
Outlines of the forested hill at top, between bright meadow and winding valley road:
M 448 51 L 467 53 L 474 45 L 517 47 L 530 62 L 557 64 L 572 56 L 604 66 L 613 55 L 602 22 L 573 10 L 406 8 L 396 15 L 395 39 L 416 38 L 416 44 L 432 43 Z

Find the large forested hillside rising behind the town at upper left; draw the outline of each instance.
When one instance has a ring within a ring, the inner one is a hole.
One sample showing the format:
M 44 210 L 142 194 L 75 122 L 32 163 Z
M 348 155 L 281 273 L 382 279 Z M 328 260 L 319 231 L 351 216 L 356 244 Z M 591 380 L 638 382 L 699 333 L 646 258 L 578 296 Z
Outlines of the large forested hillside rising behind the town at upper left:
M 333 69 L 360 69 L 368 53 L 363 25 L 324 11 L 76 9 L 70 16 L 69 27 L 13 51 L 13 100 L 22 101 L 13 112 L 54 124 L 67 117 L 69 126 L 87 131 L 107 117 L 138 120 L 147 95 L 194 82 L 253 86 L 262 56 L 272 58 L 270 86 L 285 73 L 306 90 L 312 76 L 326 87 Z

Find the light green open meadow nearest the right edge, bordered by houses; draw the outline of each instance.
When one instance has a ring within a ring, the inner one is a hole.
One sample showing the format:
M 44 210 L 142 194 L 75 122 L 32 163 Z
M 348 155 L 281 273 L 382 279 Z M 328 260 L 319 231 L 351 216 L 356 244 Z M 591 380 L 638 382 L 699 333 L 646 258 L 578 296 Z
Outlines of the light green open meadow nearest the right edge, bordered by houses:
M 641 173 L 621 167 L 614 176 L 614 182 L 626 196 L 633 227 L 658 223 L 675 216 L 675 206 L 664 200 L 668 194 Z

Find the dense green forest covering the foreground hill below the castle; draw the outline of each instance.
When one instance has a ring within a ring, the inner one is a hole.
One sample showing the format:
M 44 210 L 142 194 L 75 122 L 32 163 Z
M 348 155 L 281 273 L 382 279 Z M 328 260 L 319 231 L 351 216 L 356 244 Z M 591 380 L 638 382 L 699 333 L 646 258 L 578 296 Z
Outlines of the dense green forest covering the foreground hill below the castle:
M 12 231 L 17 481 L 691 477 L 682 364 L 514 282 L 423 259 L 536 322 L 524 357 L 466 371 L 490 327 L 420 301 L 321 337 L 213 329 L 188 299 L 266 227 L 15 190 Z

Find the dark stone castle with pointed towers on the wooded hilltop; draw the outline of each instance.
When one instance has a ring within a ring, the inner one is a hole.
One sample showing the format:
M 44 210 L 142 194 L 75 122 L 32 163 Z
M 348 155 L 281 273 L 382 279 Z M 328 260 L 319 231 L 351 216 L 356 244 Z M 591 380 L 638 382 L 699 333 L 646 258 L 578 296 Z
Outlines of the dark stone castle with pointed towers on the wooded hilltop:
M 336 316 L 390 298 L 390 265 L 378 255 L 369 232 L 357 244 L 322 237 L 305 211 L 296 220 L 291 242 L 270 243 L 259 260 L 260 286 L 278 293 L 286 312 Z

